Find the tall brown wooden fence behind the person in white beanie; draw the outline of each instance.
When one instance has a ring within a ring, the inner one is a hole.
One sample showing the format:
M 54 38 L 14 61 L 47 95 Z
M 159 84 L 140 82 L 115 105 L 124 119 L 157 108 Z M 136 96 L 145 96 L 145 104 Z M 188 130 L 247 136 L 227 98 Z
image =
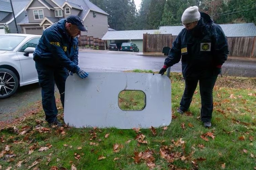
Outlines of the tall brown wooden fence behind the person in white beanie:
M 172 47 L 177 36 L 171 34 L 143 34 L 143 52 L 162 52 Z M 256 37 L 227 37 L 229 55 L 256 58 Z

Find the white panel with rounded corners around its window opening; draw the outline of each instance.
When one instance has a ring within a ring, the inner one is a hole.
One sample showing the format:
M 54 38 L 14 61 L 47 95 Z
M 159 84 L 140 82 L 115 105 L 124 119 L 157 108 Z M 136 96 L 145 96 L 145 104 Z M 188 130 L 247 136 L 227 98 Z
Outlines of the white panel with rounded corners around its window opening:
M 141 90 L 146 106 L 141 111 L 123 111 L 118 106 L 122 90 Z M 171 123 L 171 82 L 166 75 L 131 72 L 91 72 L 66 81 L 64 121 L 76 128 L 150 128 Z

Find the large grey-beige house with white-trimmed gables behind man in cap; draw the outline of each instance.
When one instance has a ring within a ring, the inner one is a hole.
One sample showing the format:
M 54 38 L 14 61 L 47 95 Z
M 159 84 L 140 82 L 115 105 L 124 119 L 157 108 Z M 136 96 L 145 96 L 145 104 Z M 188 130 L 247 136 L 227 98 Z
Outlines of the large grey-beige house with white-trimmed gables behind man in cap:
M 18 25 L 22 33 L 39 34 L 45 28 L 70 15 L 78 15 L 87 32 L 81 35 L 102 38 L 108 31 L 108 15 L 89 0 L 30 0 L 25 7 L 27 17 Z

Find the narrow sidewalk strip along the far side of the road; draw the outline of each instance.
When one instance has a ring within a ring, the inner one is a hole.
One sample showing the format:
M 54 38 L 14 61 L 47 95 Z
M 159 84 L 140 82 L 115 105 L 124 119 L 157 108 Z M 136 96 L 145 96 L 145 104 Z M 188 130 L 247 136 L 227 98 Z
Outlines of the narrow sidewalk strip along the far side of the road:
M 148 55 L 148 56 L 162 56 L 167 57 L 163 55 L 161 52 L 129 52 L 129 51 L 109 51 L 109 50 L 88 50 L 88 49 L 79 49 L 79 52 L 93 52 L 93 53 L 111 53 L 111 54 L 131 54 L 131 55 Z M 234 56 L 228 56 L 227 60 L 237 60 L 237 61 L 251 61 L 256 62 L 256 58 L 250 58 L 250 57 L 234 57 Z

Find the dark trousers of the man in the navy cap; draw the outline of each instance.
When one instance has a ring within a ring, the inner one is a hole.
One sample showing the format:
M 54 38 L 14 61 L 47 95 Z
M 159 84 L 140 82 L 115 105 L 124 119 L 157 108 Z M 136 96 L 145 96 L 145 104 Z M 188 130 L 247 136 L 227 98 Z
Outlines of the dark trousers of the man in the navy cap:
M 42 88 L 42 105 L 45 120 L 52 123 L 58 114 L 54 96 L 55 83 L 59 89 L 60 100 L 64 108 L 65 83 L 69 73 L 64 67 L 49 67 L 37 61 L 35 62 L 35 68 L 38 72 L 39 85 Z

